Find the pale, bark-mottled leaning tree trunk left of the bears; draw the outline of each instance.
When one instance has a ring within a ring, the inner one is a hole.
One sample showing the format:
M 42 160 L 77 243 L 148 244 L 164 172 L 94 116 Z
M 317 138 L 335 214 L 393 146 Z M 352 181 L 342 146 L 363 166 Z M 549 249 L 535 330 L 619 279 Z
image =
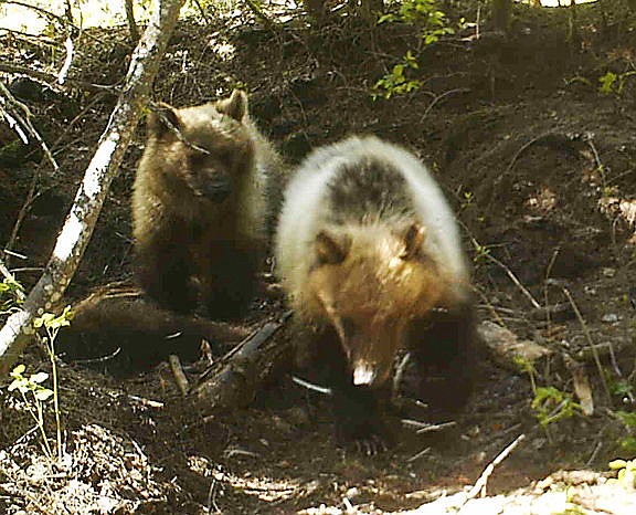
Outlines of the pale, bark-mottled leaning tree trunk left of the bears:
M 0 329 L 0 377 L 6 377 L 33 335 L 33 318 L 60 301 L 84 254 L 108 187 L 148 103 L 150 88 L 183 0 L 157 0 L 152 19 L 135 49 L 126 83 L 57 235 L 55 249 L 22 308 Z

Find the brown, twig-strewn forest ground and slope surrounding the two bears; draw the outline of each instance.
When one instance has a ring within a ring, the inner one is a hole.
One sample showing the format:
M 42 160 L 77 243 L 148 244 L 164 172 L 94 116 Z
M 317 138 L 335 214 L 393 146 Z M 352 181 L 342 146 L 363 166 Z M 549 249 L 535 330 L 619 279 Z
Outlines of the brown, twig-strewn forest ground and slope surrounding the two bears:
M 339 449 L 328 399 L 289 375 L 274 378 L 246 409 L 204 412 L 183 399 L 166 364 L 113 377 L 61 356 L 61 462 L 43 454 L 24 402 L 0 390 L 0 513 L 382 514 L 435 500 L 417 513 L 446 513 L 441 503 L 462 506 L 467 487 L 520 434 L 487 485 L 489 495 L 516 492 L 516 501 L 488 497 L 479 503 L 490 504 L 473 512 L 466 504 L 462 513 L 636 513 L 629 480 L 608 480 L 616 476 L 612 460 L 636 455 L 636 21 L 629 29 L 621 10 L 601 9 L 581 7 L 574 38 L 564 9 L 519 6 L 506 38 L 484 27 L 477 38 L 467 27 L 422 50 L 418 70 L 407 71 L 421 87 L 390 99 L 373 99 L 373 85 L 421 44 L 413 28 L 370 30 L 340 18 L 316 30 L 295 18 L 268 31 L 236 13 L 208 25 L 180 22 L 156 99 L 193 105 L 242 85 L 254 118 L 290 164 L 348 134 L 411 148 L 462 222 L 480 319 L 552 356 L 532 378 L 484 359 L 477 392 L 451 429 L 418 434 L 395 420 L 396 446 L 375 456 Z M 125 31 L 88 35 L 74 78 L 119 82 L 130 51 Z M 2 60 L 51 70 L 33 42 L 2 39 Z M 600 92 L 607 72 L 624 81 L 621 91 Z M 51 141 L 57 174 L 38 167 L 41 156 L 20 153 L 13 133 L 1 128 L 2 242 L 11 240 L 32 183 L 39 193 L 6 256 L 26 288 L 49 259 L 114 101 L 73 88 L 23 98 Z M 129 196 L 142 144 L 140 127 L 70 303 L 131 276 Z M 267 287 L 240 328 L 256 330 L 285 311 L 272 275 L 263 281 Z M 572 360 L 583 372 L 572 371 Z M 28 372 L 50 370 L 36 346 L 23 362 Z M 548 407 L 555 420 L 540 424 L 534 388 L 574 396 L 577 374 L 590 380 L 593 413 L 566 413 L 571 403 L 558 400 Z M 425 411 L 421 419 L 427 421 Z M 540 493 L 555 504 L 541 504 L 548 501 Z M 518 511 L 504 512 L 501 503 Z

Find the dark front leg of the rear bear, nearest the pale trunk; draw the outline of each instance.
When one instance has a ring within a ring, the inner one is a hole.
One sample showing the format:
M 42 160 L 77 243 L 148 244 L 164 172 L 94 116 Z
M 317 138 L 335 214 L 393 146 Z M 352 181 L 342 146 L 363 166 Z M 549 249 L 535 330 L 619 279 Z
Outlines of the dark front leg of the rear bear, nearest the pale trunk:
M 159 306 L 174 313 L 190 313 L 197 307 L 190 245 L 183 228 L 157 234 L 137 245 L 141 287 Z

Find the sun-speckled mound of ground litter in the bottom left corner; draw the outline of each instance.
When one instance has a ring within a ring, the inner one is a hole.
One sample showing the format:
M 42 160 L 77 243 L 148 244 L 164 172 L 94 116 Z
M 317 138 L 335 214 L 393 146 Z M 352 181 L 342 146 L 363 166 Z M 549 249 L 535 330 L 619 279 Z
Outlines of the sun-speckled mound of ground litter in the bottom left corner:
M 163 505 L 174 491 L 170 483 L 157 480 L 156 467 L 135 441 L 103 425 L 73 431 L 61 461 L 36 451 L 38 437 L 33 433 L 0 451 L 0 507 L 6 515 L 68 509 L 135 513 Z

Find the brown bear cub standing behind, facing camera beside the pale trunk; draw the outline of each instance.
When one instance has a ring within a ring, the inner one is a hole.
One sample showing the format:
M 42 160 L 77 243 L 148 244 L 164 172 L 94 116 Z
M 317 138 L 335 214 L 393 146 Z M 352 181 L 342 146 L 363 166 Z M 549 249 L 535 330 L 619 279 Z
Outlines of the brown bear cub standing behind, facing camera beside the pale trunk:
M 266 245 L 267 180 L 278 166 L 241 91 L 149 114 L 132 192 L 146 294 L 177 313 L 202 304 L 213 318 L 241 316 Z

